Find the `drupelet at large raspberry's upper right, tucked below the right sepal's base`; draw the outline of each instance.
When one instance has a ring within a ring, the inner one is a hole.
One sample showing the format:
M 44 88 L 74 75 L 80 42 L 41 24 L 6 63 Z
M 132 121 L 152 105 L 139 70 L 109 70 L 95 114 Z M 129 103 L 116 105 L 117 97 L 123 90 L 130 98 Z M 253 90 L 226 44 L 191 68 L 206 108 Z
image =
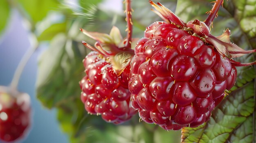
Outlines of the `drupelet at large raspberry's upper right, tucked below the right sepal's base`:
M 211 68 L 215 64 L 216 53 L 210 46 L 203 45 L 200 53 L 195 55 L 195 59 L 200 65 L 198 68 Z

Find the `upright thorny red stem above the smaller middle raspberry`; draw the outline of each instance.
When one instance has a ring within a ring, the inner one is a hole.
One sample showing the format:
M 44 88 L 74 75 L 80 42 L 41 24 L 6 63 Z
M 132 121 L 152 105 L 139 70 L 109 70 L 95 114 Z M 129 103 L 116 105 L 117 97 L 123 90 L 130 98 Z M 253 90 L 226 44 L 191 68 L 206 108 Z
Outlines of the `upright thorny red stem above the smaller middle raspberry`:
M 126 47 L 131 48 L 132 44 L 132 8 L 131 8 L 131 0 L 125 0 L 126 2 L 126 22 L 127 22 L 127 42 Z

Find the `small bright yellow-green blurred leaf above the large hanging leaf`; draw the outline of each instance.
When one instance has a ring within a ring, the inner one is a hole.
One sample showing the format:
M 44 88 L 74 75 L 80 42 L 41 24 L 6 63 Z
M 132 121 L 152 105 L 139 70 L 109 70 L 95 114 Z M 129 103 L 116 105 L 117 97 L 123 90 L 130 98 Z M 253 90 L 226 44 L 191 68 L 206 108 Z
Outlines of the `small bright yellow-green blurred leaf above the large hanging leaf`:
M 47 41 L 47 40 L 52 40 L 52 38 L 59 34 L 59 33 L 65 33 L 67 29 L 67 23 L 56 23 L 52 24 L 49 26 L 45 31 L 43 31 L 39 36 L 38 36 L 38 41 Z

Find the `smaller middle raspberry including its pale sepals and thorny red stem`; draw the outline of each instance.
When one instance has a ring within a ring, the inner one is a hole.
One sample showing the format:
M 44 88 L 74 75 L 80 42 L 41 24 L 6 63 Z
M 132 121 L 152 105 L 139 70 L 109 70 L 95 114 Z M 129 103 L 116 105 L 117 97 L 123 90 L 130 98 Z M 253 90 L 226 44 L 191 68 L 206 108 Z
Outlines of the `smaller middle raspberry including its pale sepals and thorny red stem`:
M 131 20 L 130 0 L 126 0 L 126 11 L 127 19 Z M 115 26 L 110 35 L 83 29 L 81 31 L 97 40 L 95 48 L 83 42 L 87 48 L 93 50 L 83 61 L 86 76 L 80 81 L 81 101 L 85 104 L 85 110 L 90 114 L 101 115 L 107 122 L 123 123 L 136 113 L 132 108 L 136 105 L 132 105 L 131 93 L 128 90 L 130 61 L 134 55 L 134 50 L 131 49 L 131 21 L 128 21 L 126 39 L 121 37 Z M 145 44 L 146 41 L 141 40 L 140 43 Z M 137 49 L 139 54 L 141 51 L 139 47 Z

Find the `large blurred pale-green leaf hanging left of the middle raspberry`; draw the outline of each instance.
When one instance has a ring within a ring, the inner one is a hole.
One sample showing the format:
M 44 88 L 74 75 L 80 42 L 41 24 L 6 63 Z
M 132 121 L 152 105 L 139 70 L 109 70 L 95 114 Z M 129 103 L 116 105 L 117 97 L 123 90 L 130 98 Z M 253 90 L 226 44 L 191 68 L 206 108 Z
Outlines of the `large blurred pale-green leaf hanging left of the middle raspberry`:
M 80 95 L 79 81 L 83 77 L 82 44 L 59 34 L 40 57 L 36 82 L 37 97 L 47 108 L 60 106 Z

